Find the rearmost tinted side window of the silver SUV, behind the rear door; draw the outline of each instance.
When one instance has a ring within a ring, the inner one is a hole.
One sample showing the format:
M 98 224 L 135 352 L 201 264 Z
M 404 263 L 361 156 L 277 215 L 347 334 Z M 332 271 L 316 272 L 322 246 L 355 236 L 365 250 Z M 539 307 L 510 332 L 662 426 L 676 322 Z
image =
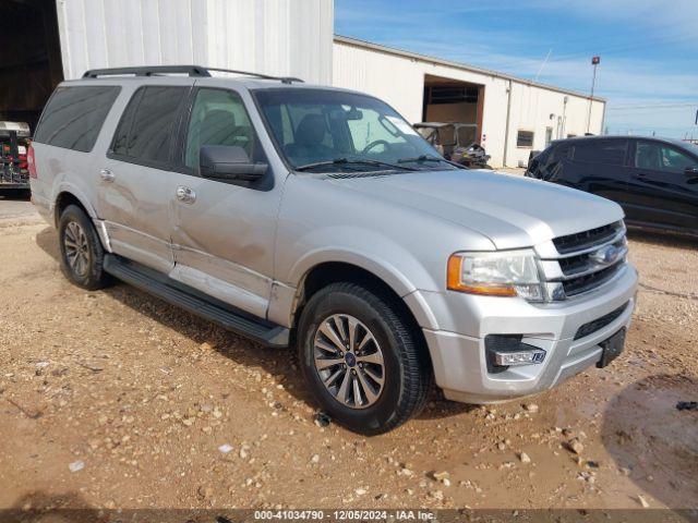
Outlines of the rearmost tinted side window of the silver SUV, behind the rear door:
M 120 89 L 118 86 L 59 87 L 44 111 L 34 141 L 91 151 Z

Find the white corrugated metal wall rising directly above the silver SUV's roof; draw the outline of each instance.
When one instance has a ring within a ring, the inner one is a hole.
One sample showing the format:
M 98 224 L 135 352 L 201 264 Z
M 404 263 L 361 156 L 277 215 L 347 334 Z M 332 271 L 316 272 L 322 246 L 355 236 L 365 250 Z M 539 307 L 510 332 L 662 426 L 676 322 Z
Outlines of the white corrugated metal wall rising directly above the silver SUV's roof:
M 333 0 L 56 0 L 65 78 L 195 63 L 332 84 Z

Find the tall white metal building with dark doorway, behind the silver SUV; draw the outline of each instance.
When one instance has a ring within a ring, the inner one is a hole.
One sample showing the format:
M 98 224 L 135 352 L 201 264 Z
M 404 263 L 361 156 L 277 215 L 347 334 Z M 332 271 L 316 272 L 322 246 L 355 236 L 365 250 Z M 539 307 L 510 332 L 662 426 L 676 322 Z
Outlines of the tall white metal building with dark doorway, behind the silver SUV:
M 202 64 L 332 83 L 332 0 L 2 0 L 0 121 L 88 69 Z

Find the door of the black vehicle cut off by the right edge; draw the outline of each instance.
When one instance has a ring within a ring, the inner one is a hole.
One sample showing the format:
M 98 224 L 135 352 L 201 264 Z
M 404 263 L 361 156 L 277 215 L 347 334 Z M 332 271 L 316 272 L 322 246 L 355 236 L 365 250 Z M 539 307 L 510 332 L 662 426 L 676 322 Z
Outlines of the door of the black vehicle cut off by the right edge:
M 673 145 L 651 139 L 634 141 L 628 182 L 628 219 L 646 226 L 698 229 L 698 158 Z

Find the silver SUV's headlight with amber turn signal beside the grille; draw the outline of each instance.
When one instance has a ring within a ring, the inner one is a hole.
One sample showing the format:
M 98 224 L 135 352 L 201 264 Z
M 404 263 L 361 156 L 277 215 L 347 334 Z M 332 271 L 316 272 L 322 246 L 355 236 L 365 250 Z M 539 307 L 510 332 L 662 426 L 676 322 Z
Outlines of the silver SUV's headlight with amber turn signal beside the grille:
M 471 294 L 544 300 L 532 251 L 453 254 L 448 258 L 447 285 L 452 291 Z

